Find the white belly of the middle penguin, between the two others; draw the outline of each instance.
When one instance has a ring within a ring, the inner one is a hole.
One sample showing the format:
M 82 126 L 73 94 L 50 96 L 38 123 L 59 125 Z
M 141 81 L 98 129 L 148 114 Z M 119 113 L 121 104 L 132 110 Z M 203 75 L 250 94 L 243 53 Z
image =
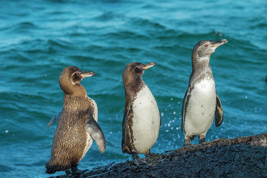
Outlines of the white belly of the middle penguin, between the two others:
M 134 147 L 136 153 L 140 154 L 153 146 L 160 128 L 158 105 L 147 86 L 137 94 L 132 110 Z

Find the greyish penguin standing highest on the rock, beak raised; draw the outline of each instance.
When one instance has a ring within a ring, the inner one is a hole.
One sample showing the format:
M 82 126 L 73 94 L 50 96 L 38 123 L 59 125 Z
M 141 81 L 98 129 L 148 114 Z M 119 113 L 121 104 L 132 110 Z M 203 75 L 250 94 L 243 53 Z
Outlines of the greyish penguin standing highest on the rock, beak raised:
M 223 119 L 222 104 L 216 92 L 215 81 L 209 64 L 209 58 L 215 49 L 227 43 L 226 39 L 219 41 L 202 40 L 192 52 L 192 73 L 182 105 L 182 131 L 184 129 L 184 146 L 198 135 L 198 142 L 206 142 L 205 136 L 212 125 L 215 115 L 215 125 L 219 127 Z

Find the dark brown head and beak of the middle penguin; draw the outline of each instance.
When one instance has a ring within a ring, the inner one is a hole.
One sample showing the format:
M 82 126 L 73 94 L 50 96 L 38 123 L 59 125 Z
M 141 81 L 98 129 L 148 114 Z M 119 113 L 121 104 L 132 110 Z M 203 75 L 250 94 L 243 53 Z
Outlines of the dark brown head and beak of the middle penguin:
M 130 77 L 141 77 L 144 74 L 144 71 L 150 67 L 155 66 L 157 63 L 155 62 L 150 62 L 147 64 L 142 64 L 140 62 L 131 62 L 129 64 L 127 64 L 127 66 L 124 69 L 123 72 L 123 76 L 126 77 L 130 76 Z

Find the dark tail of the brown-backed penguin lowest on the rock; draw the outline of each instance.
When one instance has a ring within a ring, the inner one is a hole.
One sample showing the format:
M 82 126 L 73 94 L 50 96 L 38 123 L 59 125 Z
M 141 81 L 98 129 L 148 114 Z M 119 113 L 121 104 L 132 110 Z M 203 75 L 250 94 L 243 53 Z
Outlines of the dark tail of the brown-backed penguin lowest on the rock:
M 46 174 L 54 174 L 56 171 L 66 171 L 71 169 L 71 163 L 67 163 L 59 158 L 51 157 L 50 160 L 45 164 Z

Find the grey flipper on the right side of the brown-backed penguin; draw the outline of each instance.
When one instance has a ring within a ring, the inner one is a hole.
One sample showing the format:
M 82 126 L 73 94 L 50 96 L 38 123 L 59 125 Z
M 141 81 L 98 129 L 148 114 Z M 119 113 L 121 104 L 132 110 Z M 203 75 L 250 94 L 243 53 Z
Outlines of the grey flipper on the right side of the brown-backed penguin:
M 100 126 L 98 125 L 96 120 L 93 118 L 92 114 L 90 114 L 90 116 L 87 117 L 85 124 L 84 124 L 84 129 L 96 141 L 99 151 L 101 153 L 104 153 L 106 150 L 106 139 Z

